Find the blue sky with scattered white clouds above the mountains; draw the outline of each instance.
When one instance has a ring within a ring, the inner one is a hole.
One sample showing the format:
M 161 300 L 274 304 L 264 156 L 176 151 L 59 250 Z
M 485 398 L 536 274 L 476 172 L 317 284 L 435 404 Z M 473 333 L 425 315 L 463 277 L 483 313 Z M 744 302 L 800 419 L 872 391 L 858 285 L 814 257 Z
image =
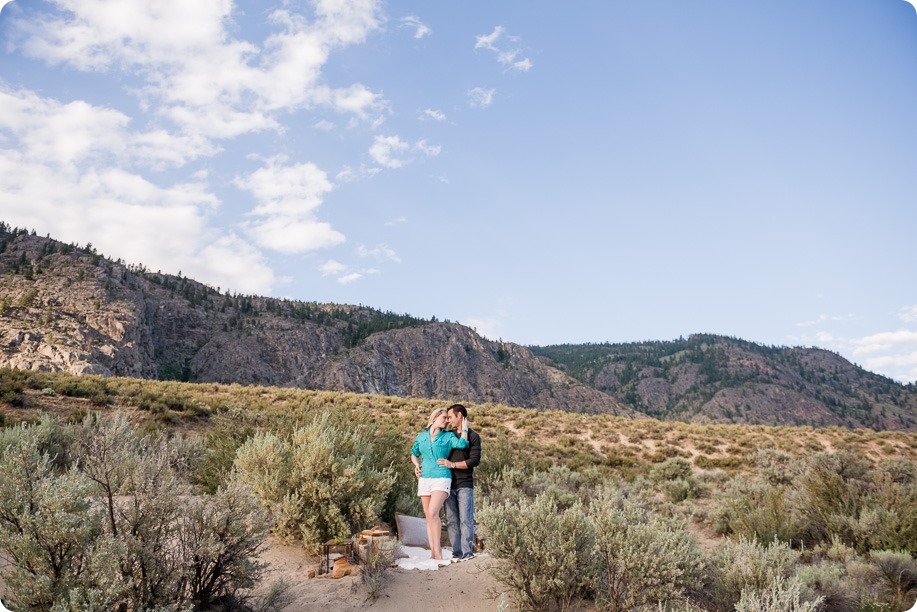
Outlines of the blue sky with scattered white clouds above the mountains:
M 0 11 L 0 218 L 224 290 L 911 382 L 915 196 L 904 0 Z

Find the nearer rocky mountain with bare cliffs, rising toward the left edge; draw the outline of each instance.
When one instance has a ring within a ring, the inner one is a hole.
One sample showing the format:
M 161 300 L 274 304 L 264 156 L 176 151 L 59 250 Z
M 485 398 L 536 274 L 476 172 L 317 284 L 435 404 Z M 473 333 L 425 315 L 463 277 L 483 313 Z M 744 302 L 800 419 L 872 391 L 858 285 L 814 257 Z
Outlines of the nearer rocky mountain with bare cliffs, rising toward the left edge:
M 461 325 L 221 295 L 28 233 L 0 247 L 0 367 L 637 414 Z

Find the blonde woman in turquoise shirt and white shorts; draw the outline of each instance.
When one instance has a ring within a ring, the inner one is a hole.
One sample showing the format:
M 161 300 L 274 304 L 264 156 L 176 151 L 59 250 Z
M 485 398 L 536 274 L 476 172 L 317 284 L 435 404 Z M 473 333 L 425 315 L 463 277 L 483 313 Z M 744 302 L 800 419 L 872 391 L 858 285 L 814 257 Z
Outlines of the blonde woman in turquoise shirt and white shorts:
M 424 518 L 427 520 L 427 539 L 430 542 L 430 555 L 442 559 L 440 534 L 443 524 L 439 511 L 443 502 L 449 497 L 452 488 L 452 471 L 437 463 L 446 459 L 453 448 L 468 447 L 468 421 L 462 425 L 462 437 L 446 431 L 446 408 L 437 408 L 430 413 L 427 428 L 417 434 L 414 446 L 411 447 L 411 463 L 414 464 L 414 475 L 418 478 L 417 495 L 423 505 Z

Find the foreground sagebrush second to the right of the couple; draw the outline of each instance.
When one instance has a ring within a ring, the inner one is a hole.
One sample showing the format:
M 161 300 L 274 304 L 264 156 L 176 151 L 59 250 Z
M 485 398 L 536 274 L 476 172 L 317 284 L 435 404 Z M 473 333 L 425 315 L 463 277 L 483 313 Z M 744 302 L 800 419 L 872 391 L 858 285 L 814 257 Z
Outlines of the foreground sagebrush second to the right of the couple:
M 652 514 L 613 489 L 593 500 L 589 517 L 600 564 L 595 586 L 599 609 L 623 611 L 683 600 L 700 588 L 703 556 L 683 524 Z

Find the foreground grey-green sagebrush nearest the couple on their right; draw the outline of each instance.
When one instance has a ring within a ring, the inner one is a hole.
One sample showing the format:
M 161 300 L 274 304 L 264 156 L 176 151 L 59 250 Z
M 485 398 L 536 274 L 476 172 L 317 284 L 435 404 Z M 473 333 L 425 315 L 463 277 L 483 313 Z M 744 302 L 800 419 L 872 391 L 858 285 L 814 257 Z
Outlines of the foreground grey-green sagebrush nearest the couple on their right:
M 560 510 L 549 496 L 486 505 L 478 520 L 494 576 L 524 610 L 568 610 L 591 581 L 593 530 L 581 505 Z

